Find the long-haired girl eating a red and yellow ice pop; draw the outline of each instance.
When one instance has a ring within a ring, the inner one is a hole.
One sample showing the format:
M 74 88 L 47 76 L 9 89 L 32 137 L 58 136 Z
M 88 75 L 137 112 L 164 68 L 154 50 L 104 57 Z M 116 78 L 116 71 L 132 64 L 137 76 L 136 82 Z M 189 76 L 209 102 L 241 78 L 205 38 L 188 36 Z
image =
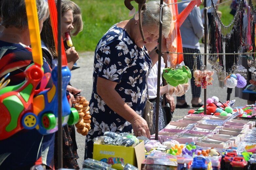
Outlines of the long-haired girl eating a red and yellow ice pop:
M 79 58 L 78 53 L 75 51 L 75 47 L 69 47 L 66 42 L 65 33 L 69 32 L 71 35 L 75 36 L 83 29 L 82 14 L 80 8 L 72 1 L 62 0 L 61 1 L 62 9 L 62 38 L 64 40 L 64 45 L 66 48 L 66 55 L 68 60 L 68 67 L 71 70 L 73 64 Z M 51 31 L 50 18 L 46 19 L 44 22 L 43 30 L 41 32 L 42 38 L 42 49 L 43 56 L 48 61 L 51 68 L 57 66 L 57 53 L 54 45 L 53 34 Z M 81 92 L 69 84 L 67 86 L 67 91 L 69 92 L 72 101 L 70 104 L 75 104 L 77 102 L 74 99 L 73 94 Z M 79 101 L 79 99 L 78 99 Z M 54 146 L 54 164 L 55 168 L 58 168 L 58 143 L 57 136 L 55 133 L 55 146 Z M 74 125 L 65 125 L 63 127 L 63 167 L 71 169 L 79 169 L 77 159 L 77 144 L 75 139 L 75 127 Z

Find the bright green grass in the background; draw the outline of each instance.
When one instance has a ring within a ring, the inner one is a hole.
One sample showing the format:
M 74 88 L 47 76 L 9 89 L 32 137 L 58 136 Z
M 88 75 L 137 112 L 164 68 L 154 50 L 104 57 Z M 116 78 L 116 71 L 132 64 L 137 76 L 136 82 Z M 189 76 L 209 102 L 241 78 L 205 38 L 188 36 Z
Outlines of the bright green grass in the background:
M 181 0 L 178 0 L 181 1 Z M 225 2 L 226 0 L 223 0 Z M 123 20 L 130 19 L 129 10 L 124 5 L 124 0 L 73 0 L 82 10 L 82 18 L 84 29 L 76 37 L 72 37 L 72 41 L 76 50 L 94 51 L 100 38 L 105 32 L 114 25 Z M 202 2 L 200 9 L 204 8 Z M 230 12 L 231 1 L 219 5 L 222 12 L 221 21 L 224 25 L 229 25 L 233 20 Z M 256 4 L 256 0 L 253 0 Z M 132 5 L 136 8 L 137 4 L 132 1 Z

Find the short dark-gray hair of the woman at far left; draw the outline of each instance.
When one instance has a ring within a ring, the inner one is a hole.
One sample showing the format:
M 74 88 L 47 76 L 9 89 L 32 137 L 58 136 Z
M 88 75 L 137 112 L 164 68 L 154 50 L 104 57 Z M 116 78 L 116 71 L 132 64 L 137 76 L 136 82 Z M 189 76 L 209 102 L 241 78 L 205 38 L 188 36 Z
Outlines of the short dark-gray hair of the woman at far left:
M 45 0 L 36 0 L 39 22 L 49 16 L 48 4 Z M 25 0 L 2 0 L 2 25 L 19 29 L 28 27 Z

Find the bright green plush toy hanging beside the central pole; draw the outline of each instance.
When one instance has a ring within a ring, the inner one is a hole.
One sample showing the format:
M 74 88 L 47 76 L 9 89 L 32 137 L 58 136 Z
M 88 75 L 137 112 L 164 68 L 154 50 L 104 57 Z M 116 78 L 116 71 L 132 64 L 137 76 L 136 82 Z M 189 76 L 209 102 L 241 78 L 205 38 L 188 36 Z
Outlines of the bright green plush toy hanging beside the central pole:
M 179 69 L 165 68 L 163 70 L 163 77 L 166 82 L 171 86 L 178 86 L 179 84 L 185 84 L 188 82 L 188 78 L 191 78 L 191 71 L 187 66 L 182 66 Z

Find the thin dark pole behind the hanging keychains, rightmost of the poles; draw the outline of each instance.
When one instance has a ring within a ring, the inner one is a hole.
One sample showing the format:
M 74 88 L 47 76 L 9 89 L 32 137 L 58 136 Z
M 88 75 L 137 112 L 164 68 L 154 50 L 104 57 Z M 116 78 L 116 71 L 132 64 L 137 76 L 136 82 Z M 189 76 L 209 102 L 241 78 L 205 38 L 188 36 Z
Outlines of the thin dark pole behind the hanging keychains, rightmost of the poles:
M 205 15 L 205 55 L 204 55 L 204 65 L 205 69 L 207 66 L 207 36 L 208 36 L 208 23 L 207 23 L 207 10 L 206 10 L 206 0 L 204 1 L 204 15 Z M 204 105 L 206 106 L 206 89 L 204 90 Z M 206 107 L 204 107 L 204 114 L 206 114 Z

